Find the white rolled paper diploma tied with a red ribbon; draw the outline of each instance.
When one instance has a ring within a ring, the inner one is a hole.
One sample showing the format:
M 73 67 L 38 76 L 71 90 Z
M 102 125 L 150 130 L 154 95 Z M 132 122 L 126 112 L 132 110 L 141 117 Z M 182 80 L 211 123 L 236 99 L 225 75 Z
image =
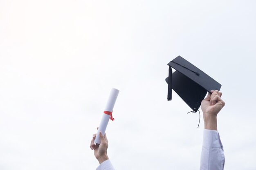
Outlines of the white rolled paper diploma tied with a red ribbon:
M 109 111 L 109 112 L 113 111 L 115 102 L 117 100 L 118 93 L 119 93 L 119 90 L 117 90 L 115 88 L 111 89 L 110 95 L 108 97 L 108 102 L 107 102 L 107 105 L 106 105 L 106 108 L 105 108 L 104 111 Z M 107 115 L 107 114 L 103 113 L 103 116 L 101 118 L 101 123 L 99 124 L 99 129 L 97 131 L 97 135 L 96 135 L 96 138 L 94 140 L 94 142 L 96 144 L 101 143 L 101 139 L 99 137 L 99 132 L 101 131 L 103 135 L 105 134 L 106 128 L 108 126 L 109 119 L 110 119 L 110 115 Z

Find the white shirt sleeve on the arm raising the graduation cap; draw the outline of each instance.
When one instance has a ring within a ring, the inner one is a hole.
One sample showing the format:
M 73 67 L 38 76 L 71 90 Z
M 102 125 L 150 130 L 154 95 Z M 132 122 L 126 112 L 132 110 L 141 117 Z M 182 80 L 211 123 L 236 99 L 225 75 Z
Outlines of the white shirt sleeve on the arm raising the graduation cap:
M 224 164 L 225 156 L 218 131 L 204 129 L 200 170 L 223 170 Z

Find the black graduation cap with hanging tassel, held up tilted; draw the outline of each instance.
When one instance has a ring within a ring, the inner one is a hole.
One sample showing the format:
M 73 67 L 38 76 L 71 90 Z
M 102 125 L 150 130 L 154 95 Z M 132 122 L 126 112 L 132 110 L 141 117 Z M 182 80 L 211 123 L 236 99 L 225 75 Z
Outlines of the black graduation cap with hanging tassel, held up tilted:
M 169 77 L 165 79 L 168 83 L 168 101 L 171 100 L 173 89 L 193 111 L 197 112 L 207 91 L 220 91 L 221 84 L 180 56 L 169 62 L 168 66 Z M 172 68 L 176 70 L 174 73 Z

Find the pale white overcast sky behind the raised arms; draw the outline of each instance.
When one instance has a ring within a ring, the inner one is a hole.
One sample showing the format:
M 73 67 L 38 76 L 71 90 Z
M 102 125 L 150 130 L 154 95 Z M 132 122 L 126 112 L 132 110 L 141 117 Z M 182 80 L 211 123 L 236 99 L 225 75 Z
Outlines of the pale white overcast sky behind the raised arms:
M 255 170 L 256 1 L 0 0 L 0 170 L 92 170 L 110 89 L 117 170 L 197 170 L 203 120 L 173 92 L 184 57 L 222 84 L 225 169 Z M 202 115 L 201 115 L 202 116 Z

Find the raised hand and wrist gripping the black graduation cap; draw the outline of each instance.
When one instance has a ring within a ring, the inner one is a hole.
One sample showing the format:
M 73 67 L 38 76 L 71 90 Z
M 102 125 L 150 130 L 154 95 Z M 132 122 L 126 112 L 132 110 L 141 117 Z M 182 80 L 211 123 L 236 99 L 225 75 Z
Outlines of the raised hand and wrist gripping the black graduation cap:
M 204 128 L 217 130 L 217 115 L 225 106 L 225 102 L 220 98 L 222 93 L 211 91 L 208 96 L 202 100 L 201 108 L 204 114 Z

